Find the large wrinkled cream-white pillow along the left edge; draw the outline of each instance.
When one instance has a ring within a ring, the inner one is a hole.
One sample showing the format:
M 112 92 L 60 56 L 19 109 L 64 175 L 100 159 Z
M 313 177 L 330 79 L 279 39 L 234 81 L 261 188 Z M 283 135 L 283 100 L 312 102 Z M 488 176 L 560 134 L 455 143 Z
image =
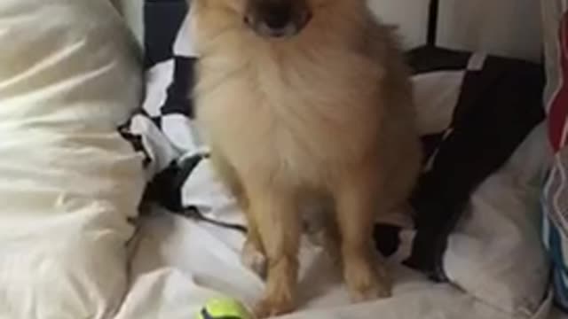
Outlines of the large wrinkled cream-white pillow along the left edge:
M 102 318 L 145 184 L 141 70 L 108 0 L 0 1 L 0 318 Z

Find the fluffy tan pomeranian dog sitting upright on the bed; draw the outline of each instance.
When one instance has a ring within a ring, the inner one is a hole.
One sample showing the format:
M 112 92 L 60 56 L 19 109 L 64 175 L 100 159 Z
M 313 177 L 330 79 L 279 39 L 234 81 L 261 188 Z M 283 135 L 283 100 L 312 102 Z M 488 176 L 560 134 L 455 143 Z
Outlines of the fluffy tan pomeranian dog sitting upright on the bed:
M 248 218 L 243 260 L 266 266 L 259 317 L 293 311 L 303 206 L 332 206 L 353 300 L 390 295 L 375 219 L 419 172 L 409 74 L 364 0 L 193 0 L 197 118 Z

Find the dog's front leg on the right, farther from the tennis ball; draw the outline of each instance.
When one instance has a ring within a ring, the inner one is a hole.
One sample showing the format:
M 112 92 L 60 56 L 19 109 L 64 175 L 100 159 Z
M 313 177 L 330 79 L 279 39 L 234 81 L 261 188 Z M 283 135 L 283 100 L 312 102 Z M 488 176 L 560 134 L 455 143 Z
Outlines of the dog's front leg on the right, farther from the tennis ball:
M 371 170 L 372 171 L 372 170 Z M 390 296 L 386 269 L 372 244 L 379 187 L 375 172 L 358 170 L 340 181 L 335 192 L 337 226 L 341 235 L 343 276 L 353 301 Z

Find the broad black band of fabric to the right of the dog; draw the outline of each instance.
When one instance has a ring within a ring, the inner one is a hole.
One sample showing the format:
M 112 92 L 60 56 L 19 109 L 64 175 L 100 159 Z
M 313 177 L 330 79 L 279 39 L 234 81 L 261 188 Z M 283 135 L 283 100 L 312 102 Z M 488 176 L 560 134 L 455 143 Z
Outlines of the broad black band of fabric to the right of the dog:
M 412 198 L 417 231 L 412 254 L 405 263 L 438 281 L 447 280 L 443 265 L 446 241 L 459 222 L 470 194 L 505 164 L 544 118 L 541 66 L 487 57 L 483 67 L 469 70 L 471 57 L 468 52 L 431 46 L 408 54 L 416 73 L 460 67 L 465 70 L 446 134 L 422 138 L 430 168 L 422 174 Z M 417 106 L 420 107 L 420 101 Z M 381 242 L 381 232 L 376 234 Z

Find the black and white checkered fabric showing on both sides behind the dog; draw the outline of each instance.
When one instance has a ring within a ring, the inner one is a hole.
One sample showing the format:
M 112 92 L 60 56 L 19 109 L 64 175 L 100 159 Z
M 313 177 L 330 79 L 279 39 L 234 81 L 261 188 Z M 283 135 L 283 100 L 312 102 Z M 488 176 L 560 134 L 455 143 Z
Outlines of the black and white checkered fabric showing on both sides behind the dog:
M 147 96 L 122 128 L 146 154 L 148 199 L 170 211 L 246 230 L 241 218 L 210 215 L 232 199 L 213 182 L 207 147 L 195 129 L 191 88 L 196 57 L 187 4 L 146 0 Z M 376 226 L 385 255 L 446 281 L 448 236 L 477 186 L 501 167 L 543 119 L 540 66 L 432 46 L 408 52 L 414 67 L 424 172 L 414 192 L 414 230 Z M 404 236 L 402 235 L 404 234 Z

